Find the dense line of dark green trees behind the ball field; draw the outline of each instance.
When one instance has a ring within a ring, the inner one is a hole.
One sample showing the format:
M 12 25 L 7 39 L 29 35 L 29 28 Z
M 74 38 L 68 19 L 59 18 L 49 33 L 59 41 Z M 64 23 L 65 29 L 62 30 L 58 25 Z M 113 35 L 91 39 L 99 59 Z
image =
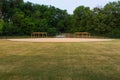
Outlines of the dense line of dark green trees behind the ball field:
M 0 35 L 30 35 L 32 32 L 89 32 L 97 36 L 120 37 L 120 1 L 103 8 L 79 6 L 73 14 L 54 6 L 23 0 L 0 0 Z

